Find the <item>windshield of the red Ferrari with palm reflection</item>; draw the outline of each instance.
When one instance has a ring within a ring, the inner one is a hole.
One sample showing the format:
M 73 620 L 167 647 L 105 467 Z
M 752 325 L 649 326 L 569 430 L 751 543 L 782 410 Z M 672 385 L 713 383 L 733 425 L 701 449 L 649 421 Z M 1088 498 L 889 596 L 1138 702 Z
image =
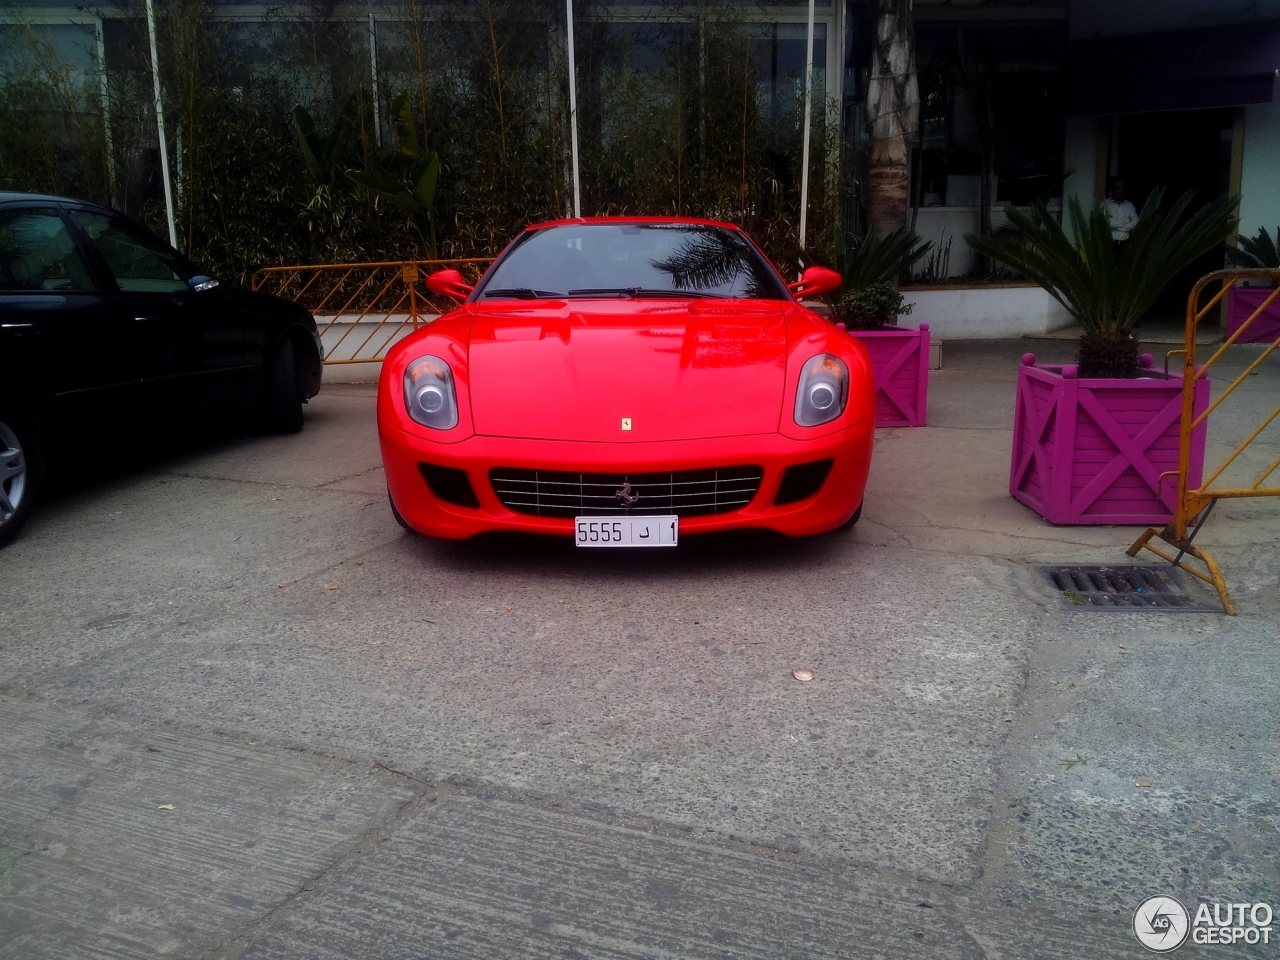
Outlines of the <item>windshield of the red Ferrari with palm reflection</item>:
M 594 223 L 525 234 L 479 296 L 783 300 L 787 294 L 778 275 L 739 230 L 681 223 Z

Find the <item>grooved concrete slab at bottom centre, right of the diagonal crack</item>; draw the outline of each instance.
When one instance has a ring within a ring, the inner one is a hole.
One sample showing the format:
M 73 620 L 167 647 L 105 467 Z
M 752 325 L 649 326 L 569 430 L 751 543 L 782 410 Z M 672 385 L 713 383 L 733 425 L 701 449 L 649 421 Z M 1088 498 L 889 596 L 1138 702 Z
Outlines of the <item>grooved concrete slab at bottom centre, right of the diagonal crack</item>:
M 241 956 L 980 956 L 927 887 L 771 852 L 521 797 L 447 797 Z

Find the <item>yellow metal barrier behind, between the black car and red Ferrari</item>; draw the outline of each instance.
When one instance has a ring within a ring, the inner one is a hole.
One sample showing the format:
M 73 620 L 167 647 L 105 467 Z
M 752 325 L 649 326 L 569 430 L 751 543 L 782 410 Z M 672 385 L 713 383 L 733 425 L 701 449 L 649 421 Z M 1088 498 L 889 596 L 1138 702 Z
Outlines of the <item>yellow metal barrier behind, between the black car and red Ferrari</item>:
M 475 283 L 492 262 L 471 257 L 268 266 L 253 274 L 251 285 L 311 311 L 325 364 L 376 364 L 401 337 L 457 306 L 426 289 L 426 274 L 452 268 Z

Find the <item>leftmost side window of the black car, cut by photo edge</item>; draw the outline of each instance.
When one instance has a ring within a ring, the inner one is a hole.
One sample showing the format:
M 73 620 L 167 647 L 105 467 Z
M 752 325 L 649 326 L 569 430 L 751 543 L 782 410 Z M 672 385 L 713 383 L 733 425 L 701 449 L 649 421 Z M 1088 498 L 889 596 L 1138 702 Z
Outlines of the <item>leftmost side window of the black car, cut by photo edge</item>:
M 55 210 L 0 210 L 0 289 L 93 289 L 93 276 Z

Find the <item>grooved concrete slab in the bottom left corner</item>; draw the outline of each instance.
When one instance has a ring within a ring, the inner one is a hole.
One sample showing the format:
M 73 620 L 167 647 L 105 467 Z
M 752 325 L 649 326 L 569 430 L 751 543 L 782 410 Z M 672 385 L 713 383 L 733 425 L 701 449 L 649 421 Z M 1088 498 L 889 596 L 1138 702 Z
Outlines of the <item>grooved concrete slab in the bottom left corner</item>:
M 202 956 L 412 797 L 380 769 L 0 696 L 0 956 Z

